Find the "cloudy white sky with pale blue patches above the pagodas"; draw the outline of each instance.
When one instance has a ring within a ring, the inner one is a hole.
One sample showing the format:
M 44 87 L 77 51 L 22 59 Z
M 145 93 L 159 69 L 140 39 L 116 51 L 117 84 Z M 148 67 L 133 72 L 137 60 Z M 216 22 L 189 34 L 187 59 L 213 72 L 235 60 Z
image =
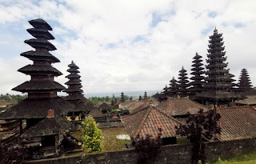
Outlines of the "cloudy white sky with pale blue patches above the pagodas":
M 0 94 L 30 79 L 17 70 L 32 63 L 19 54 L 33 50 L 24 40 L 34 18 L 53 28 L 55 80 L 64 85 L 74 60 L 85 93 L 161 90 L 182 66 L 190 74 L 196 52 L 205 61 L 215 26 L 230 73 L 238 80 L 246 68 L 256 86 L 255 9 L 254 0 L 0 0 Z

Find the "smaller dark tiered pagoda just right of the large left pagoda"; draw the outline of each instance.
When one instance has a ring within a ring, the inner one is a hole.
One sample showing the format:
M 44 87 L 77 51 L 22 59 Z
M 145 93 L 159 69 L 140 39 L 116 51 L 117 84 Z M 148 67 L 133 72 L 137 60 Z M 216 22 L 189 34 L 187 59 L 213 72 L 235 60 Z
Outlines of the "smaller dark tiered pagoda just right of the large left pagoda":
M 82 119 L 85 117 L 85 114 L 88 114 L 90 110 L 93 110 L 93 108 L 88 108 L 88 106 L 85 106 L 85 98 L 82 94 L 82 85 L 80 80 L 79 67 L 72 61 L 70 65 L 68 65 L 70 68 L 67 70 L 70 74 L 66 76 L 66 78 L 69 79 L 68 82 L 65 84 L 68 86 L 64 92 L 68 94 L 66 96 L 66 101 L 71 102 L 75 105 L 74 110 L 70 110 L 70 114 L 74 113 L 75 116 L 80 117 L 82 116 Z M 70 115 L 69 114 L 69 115 Z M 82 115 L 81 115 L 82 114 Z

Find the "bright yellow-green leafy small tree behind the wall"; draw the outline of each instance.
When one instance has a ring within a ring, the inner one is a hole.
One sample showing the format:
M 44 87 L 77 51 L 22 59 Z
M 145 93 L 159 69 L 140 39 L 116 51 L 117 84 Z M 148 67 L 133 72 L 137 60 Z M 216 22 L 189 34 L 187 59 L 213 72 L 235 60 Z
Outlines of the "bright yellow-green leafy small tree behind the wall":
M 91 116 L 82 122 L 82 140 L 88 153 L 102 151 L 102 130 L 98 129 L 98 123 Z

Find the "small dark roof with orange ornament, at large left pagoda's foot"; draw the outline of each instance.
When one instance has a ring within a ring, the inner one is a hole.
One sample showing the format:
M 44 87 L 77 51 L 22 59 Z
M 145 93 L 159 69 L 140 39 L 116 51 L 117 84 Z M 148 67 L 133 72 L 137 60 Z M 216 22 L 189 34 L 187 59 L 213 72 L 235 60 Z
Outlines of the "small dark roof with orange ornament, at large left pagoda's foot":
M 71 128 L 71 123 L 62 117 L 44 118 L 26 130 L 22 137 L 42 137 L 46 135 L 64 134 Z

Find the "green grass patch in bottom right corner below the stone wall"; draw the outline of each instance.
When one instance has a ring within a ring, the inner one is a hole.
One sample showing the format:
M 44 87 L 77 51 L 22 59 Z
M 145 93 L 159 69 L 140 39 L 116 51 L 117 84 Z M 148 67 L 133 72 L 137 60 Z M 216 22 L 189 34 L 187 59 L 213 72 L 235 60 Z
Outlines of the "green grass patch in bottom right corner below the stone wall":
M 248 153 L 241 154 L 234 158 L 219 159 L 217 162 L 210 162 L 211 164 L 255 164 L 256 163 L 256 150 Z

